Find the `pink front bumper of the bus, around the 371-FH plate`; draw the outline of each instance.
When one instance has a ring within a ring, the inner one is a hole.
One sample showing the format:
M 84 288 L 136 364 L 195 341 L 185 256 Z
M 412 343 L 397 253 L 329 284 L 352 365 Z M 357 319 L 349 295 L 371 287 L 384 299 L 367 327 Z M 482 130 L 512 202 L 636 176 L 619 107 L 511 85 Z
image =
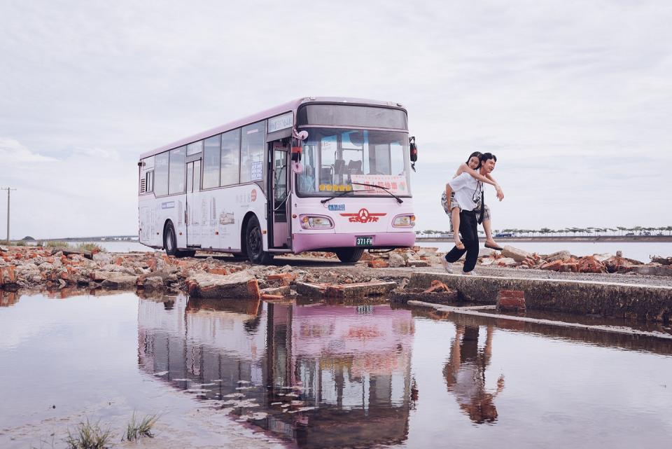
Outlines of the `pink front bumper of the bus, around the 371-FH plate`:
M 338 248 L 357 247 L 357 237 L 372 237 L 370 246 L 360 247 L 363 249 L 392 249 L 412 247 L 415 244 L 415 233 L 372 233 L 372 234 L 293 234 L 292 251 L 295 254 L 303 251 L 332 251 Z

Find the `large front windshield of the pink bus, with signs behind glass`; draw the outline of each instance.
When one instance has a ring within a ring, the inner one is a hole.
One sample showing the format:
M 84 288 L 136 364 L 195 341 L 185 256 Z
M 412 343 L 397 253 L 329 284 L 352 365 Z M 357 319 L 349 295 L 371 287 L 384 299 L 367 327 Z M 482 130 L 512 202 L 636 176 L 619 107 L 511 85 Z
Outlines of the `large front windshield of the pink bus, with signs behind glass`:
M 299 195 L 409 196 L 408 134 L 398 131 L 307 127 L 304 170 L 297 174 Z

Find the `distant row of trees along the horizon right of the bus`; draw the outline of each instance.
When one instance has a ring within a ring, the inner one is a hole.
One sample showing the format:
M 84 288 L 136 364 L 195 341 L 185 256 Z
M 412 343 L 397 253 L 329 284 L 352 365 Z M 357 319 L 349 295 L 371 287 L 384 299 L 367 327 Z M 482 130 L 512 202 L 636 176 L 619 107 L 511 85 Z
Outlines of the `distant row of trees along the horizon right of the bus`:
M 416 235 L 424 237 L 440 237 L 451 234 L 447 230 L 416 230 Z M 513 234 L 518 237 L 587 237 L 587 236 L 615 236 L 615 235 L 672 235 L 672 226 L 661 226 L 659 228 L 634 226 L 626 228 L 625 226 L 616 226 L 616 228 L 563 228 L 563 229 L 519 229 L 506 228 L 495 229 L 493 233 Z

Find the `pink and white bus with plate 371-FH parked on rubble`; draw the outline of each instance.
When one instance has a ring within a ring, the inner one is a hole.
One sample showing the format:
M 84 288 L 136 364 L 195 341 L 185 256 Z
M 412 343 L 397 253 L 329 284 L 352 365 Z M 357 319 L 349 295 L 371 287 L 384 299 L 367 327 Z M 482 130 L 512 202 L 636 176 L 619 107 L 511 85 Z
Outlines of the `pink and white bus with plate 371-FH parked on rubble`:
M 306 97 L 167 144 L 138 163 L 140 242 L 253 263 L 410 247 L 412 140 L 401 104 Z

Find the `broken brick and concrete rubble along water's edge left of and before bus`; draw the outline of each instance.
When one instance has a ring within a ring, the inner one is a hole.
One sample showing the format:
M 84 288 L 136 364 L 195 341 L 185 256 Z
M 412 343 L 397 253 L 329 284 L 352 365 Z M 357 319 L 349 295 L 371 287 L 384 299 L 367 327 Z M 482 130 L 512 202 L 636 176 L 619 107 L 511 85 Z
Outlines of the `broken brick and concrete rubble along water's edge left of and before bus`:
M 365 272 L 297 270 L 291 265 L 235 263 L 218 258 L 174 258 L 156 252 L 95 254 L 63 248 L 0 247 L 0 289 L 34 287 L 188 291 L 201 298 L 368 296 L 390 291 Z

